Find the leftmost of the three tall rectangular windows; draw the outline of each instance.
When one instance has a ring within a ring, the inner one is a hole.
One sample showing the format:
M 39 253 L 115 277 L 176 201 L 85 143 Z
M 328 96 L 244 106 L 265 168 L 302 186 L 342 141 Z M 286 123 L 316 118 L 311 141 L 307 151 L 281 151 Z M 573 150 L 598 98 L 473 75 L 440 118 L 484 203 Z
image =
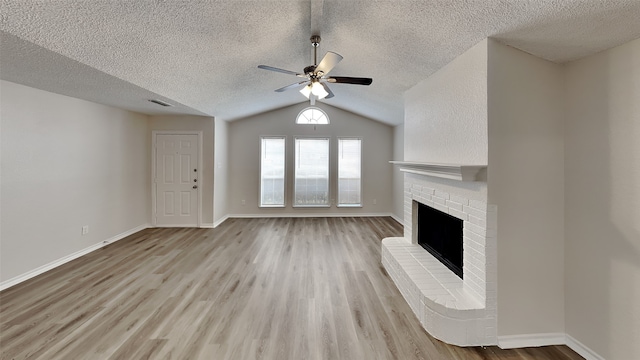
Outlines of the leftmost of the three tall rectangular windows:
M 285 138 L 263 137 L 260 147 L 260 206 L 284 206 Z

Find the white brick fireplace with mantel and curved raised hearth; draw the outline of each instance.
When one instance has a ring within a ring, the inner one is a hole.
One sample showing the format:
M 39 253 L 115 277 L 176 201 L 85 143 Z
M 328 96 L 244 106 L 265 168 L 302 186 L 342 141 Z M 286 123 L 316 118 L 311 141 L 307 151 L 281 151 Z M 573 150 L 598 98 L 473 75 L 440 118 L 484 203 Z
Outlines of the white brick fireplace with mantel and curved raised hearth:
M 497 344 L 497 209 L 486 201 L 485 167 L 394 163 L 405 172 L 404 237 L 382 241 L 382 264 L 432 336 Z M 462 279 L 418 245 L 418 203 L 462 220 Z

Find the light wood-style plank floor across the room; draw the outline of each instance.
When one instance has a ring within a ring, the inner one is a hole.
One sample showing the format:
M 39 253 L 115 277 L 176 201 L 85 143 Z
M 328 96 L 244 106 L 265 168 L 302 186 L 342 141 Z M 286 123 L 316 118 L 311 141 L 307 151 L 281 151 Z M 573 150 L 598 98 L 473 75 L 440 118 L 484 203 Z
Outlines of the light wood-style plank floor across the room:
M 380 264 L 391 218 L 147 229 L 0 293 L 2 359 L 582 359 L 429 336 Z

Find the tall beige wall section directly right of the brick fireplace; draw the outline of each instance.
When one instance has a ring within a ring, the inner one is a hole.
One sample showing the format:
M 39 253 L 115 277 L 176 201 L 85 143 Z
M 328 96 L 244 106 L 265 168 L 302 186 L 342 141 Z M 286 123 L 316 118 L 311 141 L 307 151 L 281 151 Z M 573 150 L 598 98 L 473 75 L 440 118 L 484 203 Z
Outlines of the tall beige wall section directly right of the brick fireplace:
M 489 203 L 498 337 L 564 332 L 562 66 L 489 40 Z

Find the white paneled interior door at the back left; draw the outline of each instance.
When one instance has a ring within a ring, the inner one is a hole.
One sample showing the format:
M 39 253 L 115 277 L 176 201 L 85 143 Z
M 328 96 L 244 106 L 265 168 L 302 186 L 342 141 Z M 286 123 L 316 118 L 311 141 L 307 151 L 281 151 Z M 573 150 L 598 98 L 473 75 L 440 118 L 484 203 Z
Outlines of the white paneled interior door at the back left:
M 199 226 L 198 135 L 156 134 L 156 226 Z

